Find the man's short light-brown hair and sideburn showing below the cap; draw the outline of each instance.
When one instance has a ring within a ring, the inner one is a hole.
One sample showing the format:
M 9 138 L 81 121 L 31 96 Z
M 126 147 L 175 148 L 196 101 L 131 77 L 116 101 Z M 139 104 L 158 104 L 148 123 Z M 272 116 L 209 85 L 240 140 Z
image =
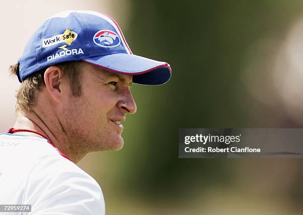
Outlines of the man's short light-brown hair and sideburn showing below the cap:
M 81 96 L 82 93 L 80 81 L 81 64 L 83 64 L 82 61 L 63 62 L 55 64 L 56 66 L 59 66 L 62 69 L 63 77 L 68 78 L 71 94 L 76 97 Z M 21 86 L 17 91 L 16 95 L 16 113 L 21 109 L 30 111 L 35 107 L 38 92 L 45 87 L 44 73 L 47 68 L 43 68 L 37 71 L 36 73 L 26 77 L 26 79 L 22 81 Z M 19 74 L 19 64 L 16 63 L 14 65 L 10 65 L 9 71 L 11 75 Z

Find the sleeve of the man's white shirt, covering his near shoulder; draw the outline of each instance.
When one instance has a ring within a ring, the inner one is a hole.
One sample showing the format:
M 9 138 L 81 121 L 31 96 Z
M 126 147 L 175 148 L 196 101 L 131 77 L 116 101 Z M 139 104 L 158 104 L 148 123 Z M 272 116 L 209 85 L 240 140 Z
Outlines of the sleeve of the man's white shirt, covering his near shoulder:
M 32 205 L 32 212 L 46 214 L 105 214 L 103 194 L 97 181 L 61 156 L 50 156 L 34 166 L 23 204 Z

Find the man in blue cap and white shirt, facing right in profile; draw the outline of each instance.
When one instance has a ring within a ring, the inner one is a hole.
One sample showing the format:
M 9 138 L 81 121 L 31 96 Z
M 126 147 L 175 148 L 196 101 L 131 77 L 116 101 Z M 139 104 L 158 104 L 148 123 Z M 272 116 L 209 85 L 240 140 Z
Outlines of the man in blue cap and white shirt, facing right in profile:
M 109 16 L 63 11 L 10 70 L 21 87 L 16 123 L 0 135 L 0 204 L 31 205 L 32 215 L 105 214 L 99 184 L 75 163 L 122 148 L 120 122 L 136 112 L 130 86 L 163 84 L 170 66 L 132 54 Z

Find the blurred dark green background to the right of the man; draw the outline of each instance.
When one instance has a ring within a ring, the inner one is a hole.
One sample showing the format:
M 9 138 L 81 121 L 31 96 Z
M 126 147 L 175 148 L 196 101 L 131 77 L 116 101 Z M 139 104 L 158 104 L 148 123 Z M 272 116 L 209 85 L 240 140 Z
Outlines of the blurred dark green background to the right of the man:
M 303 214 L 301 159 L 178 158 L 178 128 L 303 126 L 303 1 L 128 6 L 132 51 L 169 62 L 172 78 L 133 86 L 123 149 L 79 163 L 101 184 L 107 214 Z

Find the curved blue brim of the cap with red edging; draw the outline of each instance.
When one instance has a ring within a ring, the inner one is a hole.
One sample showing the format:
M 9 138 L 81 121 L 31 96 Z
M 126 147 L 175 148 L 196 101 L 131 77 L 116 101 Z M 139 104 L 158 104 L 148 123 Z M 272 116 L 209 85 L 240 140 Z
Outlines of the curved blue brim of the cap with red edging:
M 133 82 L 137 84 L 164 84 L 171 76 L 168 63 L 134 54 L 108 54 L 85 58 L 83 61 L 111 72 L 134 75 Z

